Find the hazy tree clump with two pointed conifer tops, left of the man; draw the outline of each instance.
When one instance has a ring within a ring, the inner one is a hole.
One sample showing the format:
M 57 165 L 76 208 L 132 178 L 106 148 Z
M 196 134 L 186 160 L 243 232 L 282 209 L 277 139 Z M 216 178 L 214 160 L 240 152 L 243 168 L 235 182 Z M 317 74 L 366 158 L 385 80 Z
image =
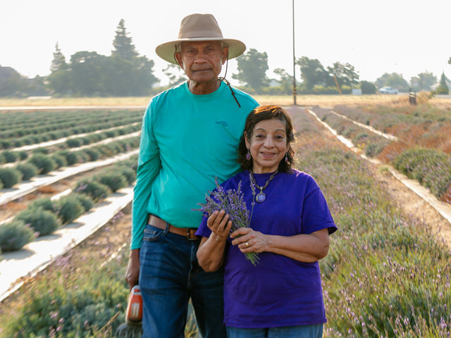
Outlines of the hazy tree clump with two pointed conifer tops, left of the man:
M 75 96 L 146 96 L 158 82 L 154 61 L 139 56 L 121 20 L 111 56 L 78 51 L 66 64 L 56 44 L 49 87 L 54 94 Z

